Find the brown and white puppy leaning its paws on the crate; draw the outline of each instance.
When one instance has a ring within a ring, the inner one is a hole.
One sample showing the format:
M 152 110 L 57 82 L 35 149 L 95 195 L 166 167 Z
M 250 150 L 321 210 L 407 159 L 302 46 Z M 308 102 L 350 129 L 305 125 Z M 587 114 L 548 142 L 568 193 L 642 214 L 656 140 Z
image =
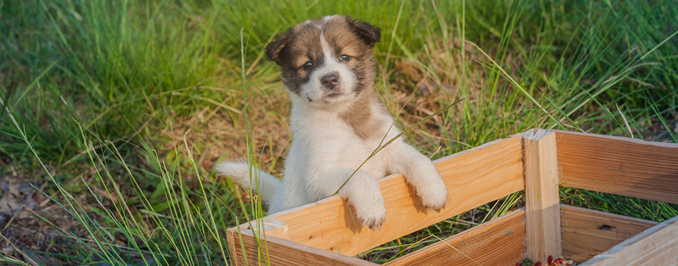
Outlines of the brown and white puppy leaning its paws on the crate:
M 258 188 L 269 213 L 327 198 L 341 187 L 338 195 L 373 230 L 386 218 L 377 180 L 392 173 L 405 175 L 426 208 L 443 208 L 447 188 L 440 174 L 402 137 L 360 166 L 400 133 L 373 90 L 373 48 L 380 36 L 379 28 L 336 15 L 305 21 L 277 36 L 266 54 L 280 66 L 292 101 L 285 178 L 281 182 L 255 170 L 251 179 L 243 162 L 218 163 L 217 172 Z

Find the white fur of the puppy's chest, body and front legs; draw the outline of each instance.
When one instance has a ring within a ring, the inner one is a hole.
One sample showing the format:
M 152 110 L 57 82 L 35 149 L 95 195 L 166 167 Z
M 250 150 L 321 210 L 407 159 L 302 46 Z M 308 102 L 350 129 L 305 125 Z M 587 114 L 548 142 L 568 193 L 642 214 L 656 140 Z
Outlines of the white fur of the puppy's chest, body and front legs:
M 333 195 L 382 142 L 382 138 L 358 137 L 333 110 L 313 108 L 296 96 L 292 100 L 294 141 L 285 160 L 281 204 L 272 205 L 271 213 Z M 388 114 L 373 106 L 372 115 L 385 121 L 379 130 L 385 134 L 384 142 L 398 135 L 398 129 L 390 128 L 393 118 Z M 385 220 L 377 179 L 390 173 L 403 173 L 426 207 L 440 210 L 447 202 L 447 188 L 431 161 L 401 137 L 370 158 L 339 192 L 354 206 L 364 225 L 380 227 Z

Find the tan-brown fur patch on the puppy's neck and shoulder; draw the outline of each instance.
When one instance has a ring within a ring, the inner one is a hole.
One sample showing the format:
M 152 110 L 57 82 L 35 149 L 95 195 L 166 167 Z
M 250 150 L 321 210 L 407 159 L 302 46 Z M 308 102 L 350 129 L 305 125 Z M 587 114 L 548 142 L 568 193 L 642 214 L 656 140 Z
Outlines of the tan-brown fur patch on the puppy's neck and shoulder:
M 339 118 L 348 123 L 348 126 L 353 128 L 353 132 L 363 140 L 382 137 L 383 132 L 380 128 L 383 126 L 383 121 L 380 116 L 373 113 L 372 106 L 378 106 L 378 111 L 385 111 L 383 103 L 374 95 L 372 91 L 365 91 L 361 93 L 358 101 L 353 102 L 353 105 L 347 111 L 339 113 Z M 383 110 L 382 110 L 383 109 Z

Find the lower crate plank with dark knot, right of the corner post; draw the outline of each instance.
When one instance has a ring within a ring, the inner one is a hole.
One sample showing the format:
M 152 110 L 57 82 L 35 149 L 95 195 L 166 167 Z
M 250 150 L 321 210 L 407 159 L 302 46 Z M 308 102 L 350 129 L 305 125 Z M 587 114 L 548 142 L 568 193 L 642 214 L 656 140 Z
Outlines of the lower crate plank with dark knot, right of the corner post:
M 659 222 L 560 205 L 560 224 L 565 257 L 583 262 Z

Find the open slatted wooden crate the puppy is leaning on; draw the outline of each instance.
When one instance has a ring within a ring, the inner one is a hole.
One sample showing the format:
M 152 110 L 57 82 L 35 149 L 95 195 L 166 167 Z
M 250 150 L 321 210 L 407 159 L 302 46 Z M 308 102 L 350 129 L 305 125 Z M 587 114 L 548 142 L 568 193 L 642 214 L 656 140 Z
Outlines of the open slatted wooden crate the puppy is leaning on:
M 379 183 L 381 230 L 363 227 L 344 200 L 330 197 L 228 229 L 233 262 L 374 265 L 351 256 L 525 190 L 525 208 L 386 264 L 515 265 L 552 255 L 585 265 L 677 265 L 678 217 L 657 223 L 562 205 L 558 185 L 678 203 L 678 144 L 527 131 L 435 165 L 449 191 L 440 212 L 423 208 L 402 175 L 390 175 Z

